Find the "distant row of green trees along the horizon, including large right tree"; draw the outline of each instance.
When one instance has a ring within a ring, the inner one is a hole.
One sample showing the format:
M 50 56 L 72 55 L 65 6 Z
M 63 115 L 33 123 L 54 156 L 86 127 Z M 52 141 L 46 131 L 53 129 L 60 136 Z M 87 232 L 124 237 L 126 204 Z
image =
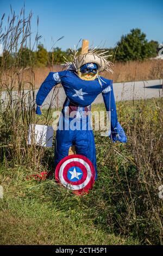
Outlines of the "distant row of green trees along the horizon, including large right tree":
M 80 48 L 78 49 L 80 52 Z M 109 50 L 109 60 L 112 62 L 127 62 L 129 60 L 145 60 L 158 55 L 158 41 L 148 41 L 146 34 L 141 29 L 131 29 L 127 35 L 122 35 L 120 41 L 114 48 L 105 48 Z M 11 63 L 16 62 L 18 66 L 49 66 L 62 64 L 65 58 L 69 60 L 70 49 L 62 51 L 61 48 L 53 48 L 53 51 L 47 51 L 43 44 L 37 45 L 37 51 L 32 51 L 28 47 L 21 47 L 17 53 L 10 54 L 9 51 L 3 52 L 3 58 L 0 58 L 0 64 L 9 68 Z

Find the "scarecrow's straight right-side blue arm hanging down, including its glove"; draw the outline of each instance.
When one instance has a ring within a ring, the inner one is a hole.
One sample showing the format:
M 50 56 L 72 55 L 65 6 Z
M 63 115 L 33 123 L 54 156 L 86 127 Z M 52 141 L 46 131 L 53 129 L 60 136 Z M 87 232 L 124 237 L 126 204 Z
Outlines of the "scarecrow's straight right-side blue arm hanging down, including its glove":
M 122 129 L 120 123 L 117 120 L 117 111 L 116 111 L 116 103 L 115 97 L 112 87 L 112 80 L 110 86 L 106 87 L 102 91 L 106 111 L 111 112 L 111 132 L 109 137 L 112 139 L 113 142 L 120 141 L 120 142 L 127 142 L 127 137 Z

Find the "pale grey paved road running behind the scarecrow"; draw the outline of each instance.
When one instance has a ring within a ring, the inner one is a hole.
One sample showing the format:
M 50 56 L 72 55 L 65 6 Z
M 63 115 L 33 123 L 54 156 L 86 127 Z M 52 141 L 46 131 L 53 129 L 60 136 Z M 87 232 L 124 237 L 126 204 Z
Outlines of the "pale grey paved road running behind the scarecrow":
M 152 97 L 162 97 L 162 80 L 151 80 L 151 81 L 138 81 L 138 82 L 126 82 L 126 83 L 114 83 L 114 94 L 116 101 L 120 100 L 135 100 L 137 99 L 150 99 Z M 35 96 L 38 90 L 35 90 L 33 96 L 29 90 L 26 90 L 26 102 L 28 102 L 28 96 L 30 94 L 32 103 L 35 101 Z M 58 99 L 55 97 L 55 93 L 58 92 Z M 17 92 L 13 92 L 13 99 L 16 98 Z M 43 108 L 48 108 L 49 103 L 53 102 L 52 107 L 61 107 L 65 101 L 65 92 L 62 87 L 55 88 L 46 97 L 43 103 Z M 1 99 L 7 102 L 8 95 L 6 92 L 2 93 Z M 93 103 L 102 103 L 102 94 L 98 95 Z M 28 103 L 27 103 L 28 105 Z

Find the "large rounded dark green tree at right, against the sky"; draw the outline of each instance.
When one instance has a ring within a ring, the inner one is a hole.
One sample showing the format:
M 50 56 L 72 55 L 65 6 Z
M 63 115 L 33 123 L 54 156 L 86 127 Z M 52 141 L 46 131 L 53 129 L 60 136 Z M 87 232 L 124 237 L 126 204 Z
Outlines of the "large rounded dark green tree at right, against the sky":
M 117 43 L 115 59 L 118 61 L 143 60 L 156 56 L 158 42 L 146 39 L 146 34 L 141 29 L 131 29 L 127 35 L 122 35 Z

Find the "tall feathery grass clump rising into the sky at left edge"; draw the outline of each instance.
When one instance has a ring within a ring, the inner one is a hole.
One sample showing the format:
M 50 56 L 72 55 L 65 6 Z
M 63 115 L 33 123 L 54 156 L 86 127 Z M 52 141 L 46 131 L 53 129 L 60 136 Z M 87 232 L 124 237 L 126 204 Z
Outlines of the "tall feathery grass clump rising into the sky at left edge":
M 8 26 L 3 28 L 3 19 L 0 26 L 0 40 L 3 44 L 5 55 L 1 58 L 0 70 L 0 156 L 5 164 L 29 164 L 38 166 L 43 150 L 35 145 L 28 146 L 29 124 L 38 122 L 35 115 L 35 59 L 29 58 L 26 66 L 20 67 L 23 48 L 34 50 L 41 38 L 38 32 L 32 45 L 31 20 L 32 13 L 25 17 L 22 8 L 19 15 L 11 9 L 11 17 L 8 17 Z M 39 18 L 37 17 L 37 26 Z M 8 56 L 14 54 L 15 58 Z M 29 51 L 30 55 L 30 51 Z M 27 74 L 28 75 L 25 75 Z M 28 85 L 28 92 L 26 87 Z M 16 88 L 16 90 L 15 90 Z M 5 92 L 3 92 L 5 90 Z M 56 94 L 54 94 L 54 97 Z M 53 97 L 53 99 L 54 99 Z M 43 116 L 43 122 L 48 124 L 49 113 Z

